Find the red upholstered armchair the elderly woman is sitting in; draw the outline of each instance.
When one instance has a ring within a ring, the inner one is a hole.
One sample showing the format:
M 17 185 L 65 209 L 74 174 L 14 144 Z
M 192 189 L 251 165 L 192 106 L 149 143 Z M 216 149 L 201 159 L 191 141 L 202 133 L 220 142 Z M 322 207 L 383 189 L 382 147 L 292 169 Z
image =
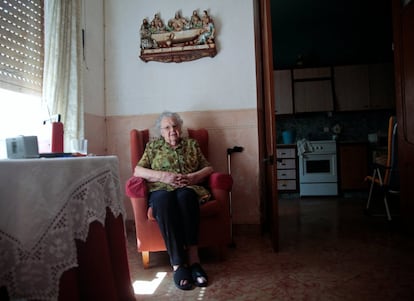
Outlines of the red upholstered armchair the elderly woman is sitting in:
M 188 129 L 188 136 L 198 141 L 201 151 L 208 159 L 208 131 L 206 129 Z M 149 140 L 149 131 L 132 129 L 131 168 L 134 170 L 140 160 Z M 200 247 L 216 247 L 222 257 L 224 249 L 231 241 L 231 218 L 229 192 L 233 185 L 231 175 L 213 173 L 207 185 L 212 193 L 212 199 L 201 205 Z M 130 178 L 126 183 L 126 193 L 130 197 L 137 237 L 138 252 L 142 253 L 144 268 L 149 267 L 150 252 L 165 251 L 166 247 L 156 220 L 148 208 L 147 189 L 145 180 L 138 177 Z

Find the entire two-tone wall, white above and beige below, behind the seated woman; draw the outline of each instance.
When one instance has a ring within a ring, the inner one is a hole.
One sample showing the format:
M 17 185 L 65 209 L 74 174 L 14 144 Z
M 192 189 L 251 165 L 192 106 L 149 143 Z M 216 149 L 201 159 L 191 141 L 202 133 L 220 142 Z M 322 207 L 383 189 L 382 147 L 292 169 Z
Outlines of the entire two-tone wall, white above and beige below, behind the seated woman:
M 123 0 L 121 6 L 115 0 L 86 2 L 84 97 L 89 152 L 117 155 L 124 185 L 131 175 L 130 129 L 151 127 L 164 109 L 183 112 L 185 126 L 209 130 L 210 161 L 216 170 L 227 170 L 227 148 L 245 148 L 231 160 L 233 222 L 259 224 L 255 1 Z M 138 29 L 143 18 L 161 13 L 168 19 L 177 10 L 187 16 L 194 9 L 208 9 L 214 18 L 218 45 L 214 58 L 180 64 L 139 59 Z M 125 207 L 132 219 L 127 198 Z

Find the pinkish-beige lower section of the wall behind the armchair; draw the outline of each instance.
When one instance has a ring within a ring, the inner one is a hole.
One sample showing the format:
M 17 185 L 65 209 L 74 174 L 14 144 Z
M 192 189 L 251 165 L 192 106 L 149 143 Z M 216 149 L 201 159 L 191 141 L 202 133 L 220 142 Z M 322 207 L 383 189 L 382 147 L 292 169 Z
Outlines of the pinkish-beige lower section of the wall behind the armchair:
M 214 169 L 227 172 L 227 148 L 242 146 L 243 152 L 231 156 L 233 222 L 259 224 L 257 113 L 256 110 L 229 110 L 180 113 L 184 128 L 207 128 L 209 131 L 210 162 Z M 89 151 L 96 154 L 116 155 L 119 158 L 122 190 L 131 176 L 129 131 L 132 128 L 152 128 L 157 115 L 106 117 L 107 145 L 105 150 L 100 127 L 105 118 L 86 115 L 86 138 Z M 127 218 L 133 219 L 132 208 L 124 198 Z

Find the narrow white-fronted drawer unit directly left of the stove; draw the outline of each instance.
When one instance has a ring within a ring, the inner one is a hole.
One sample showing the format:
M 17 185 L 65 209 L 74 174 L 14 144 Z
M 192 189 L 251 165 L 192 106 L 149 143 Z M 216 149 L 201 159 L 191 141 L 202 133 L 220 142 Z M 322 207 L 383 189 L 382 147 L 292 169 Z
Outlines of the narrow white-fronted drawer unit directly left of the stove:
M 280 191 L 296 191 L 298 187 L 297 156 L 295 145 L 278 145 L 277 189 Z

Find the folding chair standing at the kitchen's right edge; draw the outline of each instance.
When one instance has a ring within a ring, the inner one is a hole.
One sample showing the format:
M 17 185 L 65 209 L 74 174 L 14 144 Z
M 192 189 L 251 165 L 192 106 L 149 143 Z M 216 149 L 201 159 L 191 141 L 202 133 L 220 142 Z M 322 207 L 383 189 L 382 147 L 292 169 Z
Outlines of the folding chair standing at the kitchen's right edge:
M 369 182 L 370 189 L 366 205 L 366 212 L 369 213 L 370 206 L 374 199 L 374 189 L 379 189 L 384 201 L 386 216 L 392 220 L 389 208 L 389 196 L 399 196 L 399 174 L 398 174 L 398 139 L 397 119 L 391 116 L 388 121 L 388 142 L 387 154 L 385 157 L 378 157 L 373 163 L 373 174 L 365 177 Z

